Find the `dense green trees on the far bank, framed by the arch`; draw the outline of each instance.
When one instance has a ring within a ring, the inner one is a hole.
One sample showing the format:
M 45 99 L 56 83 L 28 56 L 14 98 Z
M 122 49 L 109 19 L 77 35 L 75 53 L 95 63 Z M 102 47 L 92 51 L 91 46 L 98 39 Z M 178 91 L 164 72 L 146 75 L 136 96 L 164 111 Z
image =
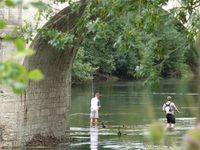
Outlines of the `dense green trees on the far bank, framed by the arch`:
M 197 74 L 198 53 L 189 31 L 161 7 L 155 25 L 148 26 L 149 16 L 142 16 L 146 9 L 142 5 L 140 10 L 89 23 L 91 32 L 73 64 L 73 81 L 84 82 L 102 74 L 119 79 L 147 78 L 150 83 Z

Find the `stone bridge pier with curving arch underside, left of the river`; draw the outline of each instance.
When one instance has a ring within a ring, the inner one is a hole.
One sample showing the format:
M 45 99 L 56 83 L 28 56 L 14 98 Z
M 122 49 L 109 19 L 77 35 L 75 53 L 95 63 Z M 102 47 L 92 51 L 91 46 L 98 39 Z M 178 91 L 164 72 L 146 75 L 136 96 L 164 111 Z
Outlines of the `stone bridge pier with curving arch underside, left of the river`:
M 75 33 L 83 6 L 78 14 L 70 13 L 69 7 L 63 9 L 44 27 Z M 12 98 L 15 103 L 14 117 L 12 123 L 7 124 L 9 127 L 5 125 L 2 128 L 2 131 L 9 130 L 6 135 L 9 138 L 6 139 L 1 132 L 1 147 L 25 145 L 38 134 L 57 139 L 69 138 L 71 68 L 80 43 L 81 39 L 78 39 L 73 48 L 59 50 L 39 34 L 36 35 L 31 44 L 36 54 L 25 58 L 24 65 L 28 70 L 40 69 L 45 78 L 39 82 L 30 81 L 22 96 Z

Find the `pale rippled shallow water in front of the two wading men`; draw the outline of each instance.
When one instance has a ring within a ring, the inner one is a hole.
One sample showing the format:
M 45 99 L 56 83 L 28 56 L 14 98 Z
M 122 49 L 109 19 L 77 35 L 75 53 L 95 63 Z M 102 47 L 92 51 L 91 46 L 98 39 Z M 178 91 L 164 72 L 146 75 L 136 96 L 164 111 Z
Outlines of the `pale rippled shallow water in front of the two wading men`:
M 165 118 L 158 120 L 165 125 Z M 176 150 L 183 149 L 180 147 L 184 134 L 193 127 L 195 118 L 177 118 L 177 128 L 173 131 L 165 132 L 164 148 L 172 149 L 177 146 Z M 148 132 L 150 124 L 141 124 L 133 126 L 110 125 L 107 128 L 80 128 L 73 127 L 72 137 L 85 139 L 80 143 L 72 143 L 70 150 L 160 150 L 158 145 L 150 145 L 148 142 Z M 121 136 L 118 136 L 120 128 Z M 88 142 L 87 142 L 88 139 Z

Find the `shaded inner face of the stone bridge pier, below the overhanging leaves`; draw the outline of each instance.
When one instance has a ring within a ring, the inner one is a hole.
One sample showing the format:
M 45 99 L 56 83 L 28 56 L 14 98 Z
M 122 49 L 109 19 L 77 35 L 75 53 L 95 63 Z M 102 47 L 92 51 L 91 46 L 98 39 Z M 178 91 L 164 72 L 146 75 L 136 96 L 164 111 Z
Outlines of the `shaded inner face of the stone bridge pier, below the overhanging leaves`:
M 40 40 L 32 46 L 37 53 L 26 58 L 24 65 L 40 69 L 45 78 L 30 82 L 22 96 L 21 137 L 31 141 L 34 135 L 40 134 L 66 139 L 69 137 L 71 100 L 71 71 L 66 66 L 66 61 L 70 60 L 66 57 L 68 52 L 55 50 Z

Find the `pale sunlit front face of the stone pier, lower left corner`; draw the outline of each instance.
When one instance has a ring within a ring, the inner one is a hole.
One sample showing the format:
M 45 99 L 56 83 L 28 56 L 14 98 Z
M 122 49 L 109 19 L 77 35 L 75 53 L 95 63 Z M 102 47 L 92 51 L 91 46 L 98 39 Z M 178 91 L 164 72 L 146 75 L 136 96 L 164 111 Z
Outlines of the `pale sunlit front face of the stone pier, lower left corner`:
M 20 97 L 1 87 L 0 103 L 0 147 L 17 146 Z

